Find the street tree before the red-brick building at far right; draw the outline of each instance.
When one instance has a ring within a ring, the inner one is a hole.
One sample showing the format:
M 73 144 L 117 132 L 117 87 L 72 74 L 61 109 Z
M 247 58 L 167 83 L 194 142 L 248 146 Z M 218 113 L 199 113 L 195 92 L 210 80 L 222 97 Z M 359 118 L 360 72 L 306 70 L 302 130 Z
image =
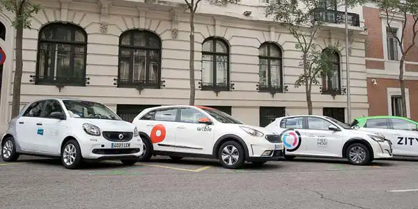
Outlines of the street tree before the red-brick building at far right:
M 401 52 L 399 59 L 399 84 L 401 86 L 401 116 L 406 117 L 405 81 L 403 70 L 408 54 L 417 43 L 418 33 L 418 1 L 417 0 L 375 0 L 380 10 L 385 13 L 386 26 L 395 38 Z M 395 29 L 398 25 L 400 29 Z M 397 33 L 401 30 L 400 33 Z M 408 37 L 409 36 L 409 37 Z M 394 47 L 397 47 L 394 45 Z M 389 46 L 388 46 L 389 49 Z M 398 52 L 398 50 L 394 50 Z M 395 55 L 397 56 L 397 54 Z

